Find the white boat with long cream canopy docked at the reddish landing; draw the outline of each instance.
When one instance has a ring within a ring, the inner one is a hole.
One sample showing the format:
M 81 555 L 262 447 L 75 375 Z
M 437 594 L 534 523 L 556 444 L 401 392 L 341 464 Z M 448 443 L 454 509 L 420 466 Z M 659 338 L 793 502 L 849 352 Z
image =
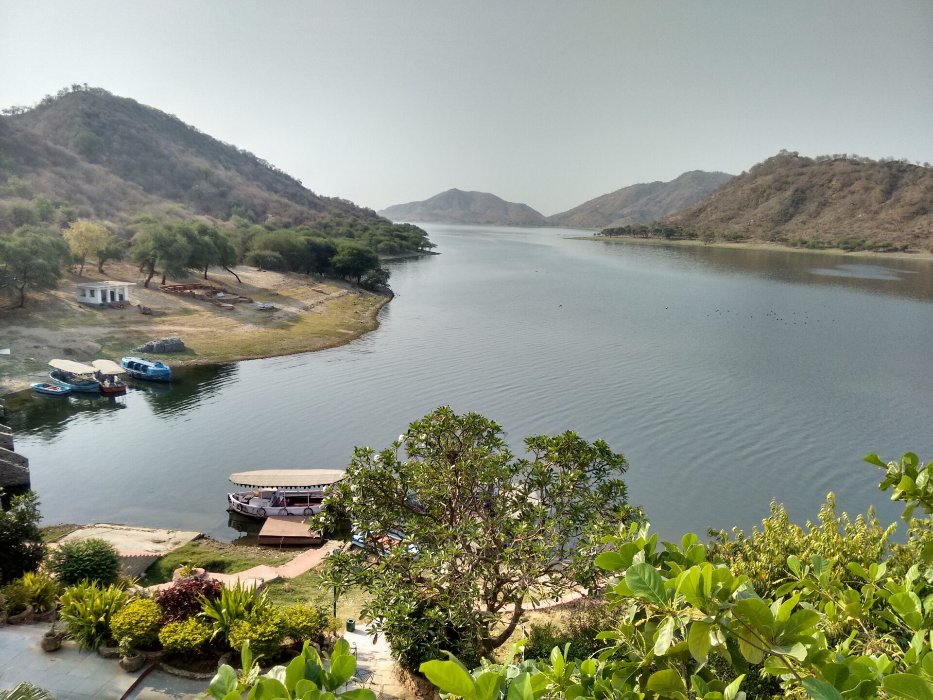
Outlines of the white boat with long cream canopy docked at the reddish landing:
M 339 482 L 341 469 L 258 469 L 230 474 L 230 481 L 248 491 L 227 494 L 227 510 L 251 518 L 272 515 L 313 515 L 321 511 L 324 492 Z

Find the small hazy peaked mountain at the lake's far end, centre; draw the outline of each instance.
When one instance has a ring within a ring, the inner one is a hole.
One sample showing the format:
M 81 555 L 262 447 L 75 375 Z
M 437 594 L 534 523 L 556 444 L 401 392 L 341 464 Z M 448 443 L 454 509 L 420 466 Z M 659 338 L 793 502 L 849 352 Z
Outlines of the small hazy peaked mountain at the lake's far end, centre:
M 377 212 L 393 221 L 496 226 L 542 226 L 547 219 L 527 204 L 506 202 L 489 192 L 448 189 L 424 202 L 395 204 Z

